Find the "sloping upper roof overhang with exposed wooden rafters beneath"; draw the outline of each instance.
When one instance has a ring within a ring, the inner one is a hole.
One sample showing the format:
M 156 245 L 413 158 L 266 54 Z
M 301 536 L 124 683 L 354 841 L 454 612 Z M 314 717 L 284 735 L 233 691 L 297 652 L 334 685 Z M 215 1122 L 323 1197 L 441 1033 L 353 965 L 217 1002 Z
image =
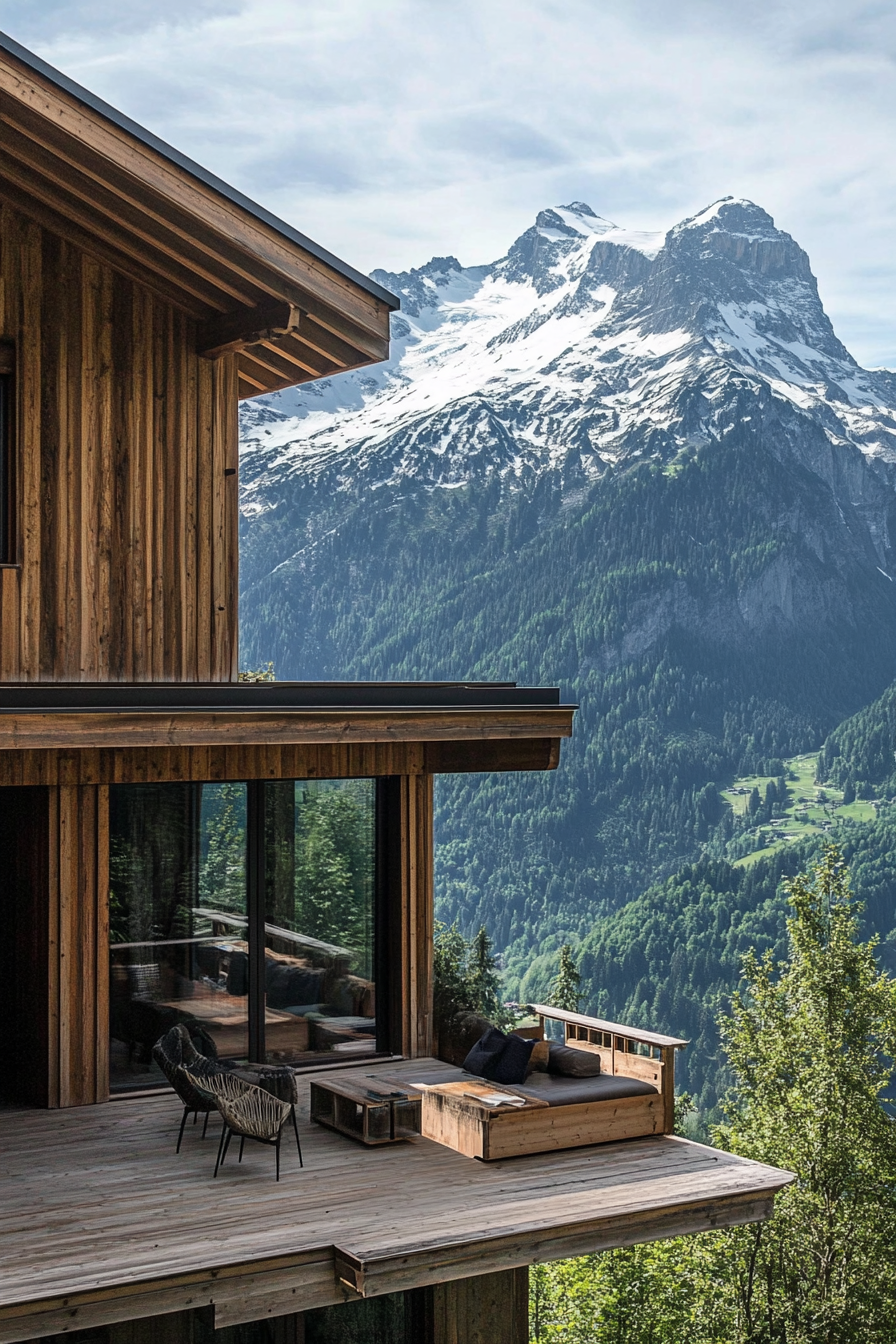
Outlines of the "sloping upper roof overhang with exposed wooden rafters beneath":
M 0 199 L 197 320 L 240 396 L 388 356 L 388 290 L 0 34 Z

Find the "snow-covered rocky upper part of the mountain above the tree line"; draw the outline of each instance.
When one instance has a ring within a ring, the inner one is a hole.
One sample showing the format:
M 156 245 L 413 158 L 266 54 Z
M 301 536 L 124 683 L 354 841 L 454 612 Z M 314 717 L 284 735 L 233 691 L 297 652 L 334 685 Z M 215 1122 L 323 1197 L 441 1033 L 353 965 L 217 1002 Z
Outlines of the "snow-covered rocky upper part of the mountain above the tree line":
M 896 466 L 896 376 L 858 367 L 809 258 L 748 200 L 665 235 L 574 202 L 492 265 L 373 274 L 402 297 L 390 362 L 244 406 L 247 520 L 300 478 L 450 488 L 497 473 L 512 488 L 553 468 L 575 491 L 785 406 L 791 448 L 801 418 L 823 433 L 810 469 L 854 470 L 850 448 L 888 478 Z

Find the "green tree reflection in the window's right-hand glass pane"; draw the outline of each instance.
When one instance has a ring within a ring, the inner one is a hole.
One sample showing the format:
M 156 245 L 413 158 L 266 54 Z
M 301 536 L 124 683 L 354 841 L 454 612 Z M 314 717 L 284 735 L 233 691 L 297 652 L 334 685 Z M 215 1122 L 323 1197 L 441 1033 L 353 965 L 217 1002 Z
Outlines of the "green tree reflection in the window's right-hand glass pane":
M 373 786 L 302 785 L 296 797 L 296 927 L 369 961 L 373 913 Z M 359 970 L 369 974 L 368 965 Z

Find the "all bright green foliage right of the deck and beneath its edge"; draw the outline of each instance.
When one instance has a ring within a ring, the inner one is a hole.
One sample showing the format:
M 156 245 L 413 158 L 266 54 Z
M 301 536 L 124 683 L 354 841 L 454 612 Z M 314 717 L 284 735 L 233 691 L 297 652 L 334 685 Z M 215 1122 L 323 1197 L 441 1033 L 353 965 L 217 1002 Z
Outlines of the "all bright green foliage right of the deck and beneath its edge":
M 713 1140 L 795 1180 L 767 1223 L 536 1267 L 533 1340 L 896 1339 L 896 988 L 834 847 L 787 891 L 786 960 L 748 954 L 721 1021 L 735 1085 Z

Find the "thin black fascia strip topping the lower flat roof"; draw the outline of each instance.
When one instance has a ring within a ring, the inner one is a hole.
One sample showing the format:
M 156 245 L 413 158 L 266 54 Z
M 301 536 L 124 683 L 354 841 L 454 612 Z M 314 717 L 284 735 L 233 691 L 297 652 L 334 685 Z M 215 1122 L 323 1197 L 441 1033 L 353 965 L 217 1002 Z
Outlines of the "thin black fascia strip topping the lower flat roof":
M 0 714 L 270 714 L 575 708 L 557 687 L 514 681 L 28 681 L 0 685 Z

